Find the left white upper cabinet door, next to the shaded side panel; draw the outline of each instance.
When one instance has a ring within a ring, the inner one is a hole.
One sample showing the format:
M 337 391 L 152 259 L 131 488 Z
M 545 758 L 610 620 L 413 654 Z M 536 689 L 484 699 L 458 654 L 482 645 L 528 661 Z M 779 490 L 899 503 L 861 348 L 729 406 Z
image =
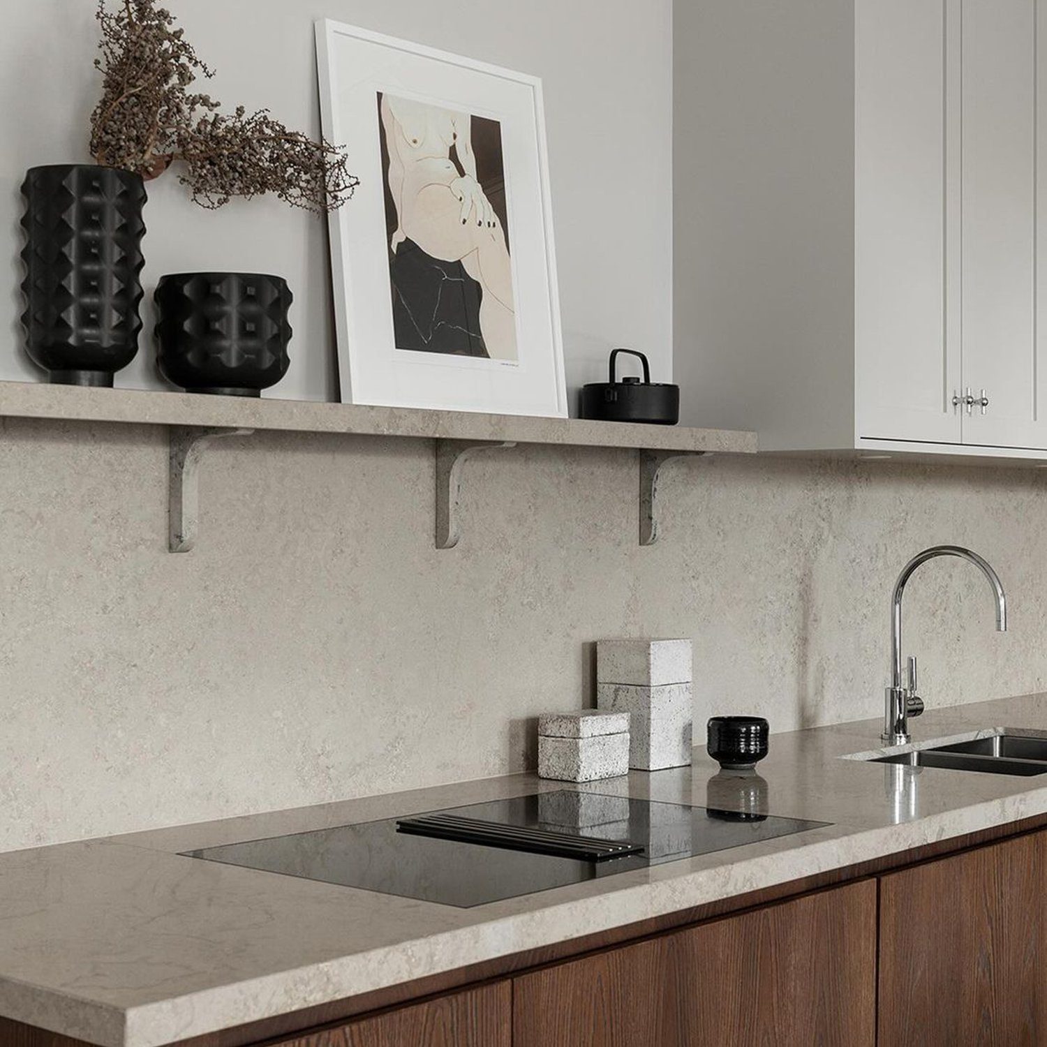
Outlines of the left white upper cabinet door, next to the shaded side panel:
M 854 6 L 859 438 L 960 441 L 959 3 Z

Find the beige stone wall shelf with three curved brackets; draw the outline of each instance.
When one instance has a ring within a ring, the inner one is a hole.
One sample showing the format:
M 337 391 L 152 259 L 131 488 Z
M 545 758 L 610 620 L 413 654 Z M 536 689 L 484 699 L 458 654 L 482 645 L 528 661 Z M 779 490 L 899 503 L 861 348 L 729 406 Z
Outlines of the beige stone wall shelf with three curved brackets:
M 725 429 L 34 382 L 0 382 L 0 418 L 165 426 L 170 440 L 169 549 L 173 553 L 186 553 L 196 541 L 197 475 L 206 447 L 220 437 L 268 429 L 432 440 L 438 549 L 451 549 L 459 541 L 463 468 L 481 451 L 516 444 L 639 451 L 640 543 L 650 545 L 658 539 L 658 482 L 666 462 L 710 452 L 755 454 L 757 449 L 755 432 Z

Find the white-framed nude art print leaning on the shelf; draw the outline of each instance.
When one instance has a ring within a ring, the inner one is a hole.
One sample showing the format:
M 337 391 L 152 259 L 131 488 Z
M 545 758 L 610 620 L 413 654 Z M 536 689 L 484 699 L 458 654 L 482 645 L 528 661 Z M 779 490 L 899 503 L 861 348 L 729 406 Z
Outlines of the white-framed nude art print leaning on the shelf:
M 316 45 L 360 177 L 331 215 L 342 400 L 565 417 L 540 82 L 332 21 Z

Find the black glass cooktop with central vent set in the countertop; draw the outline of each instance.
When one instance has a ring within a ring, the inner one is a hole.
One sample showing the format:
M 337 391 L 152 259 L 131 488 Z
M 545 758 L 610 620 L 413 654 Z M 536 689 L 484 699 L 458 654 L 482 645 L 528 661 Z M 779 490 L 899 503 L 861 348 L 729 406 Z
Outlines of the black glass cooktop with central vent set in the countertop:
M 339 825 L 186 853 L 208 862 L 468 908 L 828 824 L 569 789 L 428 815 L 433 817 Z M 422 824 L 402 824 L 416 820 Z M 444 836 L 462 831 L 484 842 Z M 596 843 L 586 845 L 586 841 Z M 624 842 L 632 847 L 617 846 Z M 532 847 L 567 852 L 575 848 L 574 853 L 583 856 L 534 853 Z

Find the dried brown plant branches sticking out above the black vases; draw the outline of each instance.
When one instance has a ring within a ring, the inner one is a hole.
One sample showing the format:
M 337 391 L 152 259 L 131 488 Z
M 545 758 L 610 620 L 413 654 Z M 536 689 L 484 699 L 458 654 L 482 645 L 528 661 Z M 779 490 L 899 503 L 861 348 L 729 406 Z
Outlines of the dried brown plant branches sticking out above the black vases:
M 359 179 L 342 149 L 288 130 L 266 109 L 223 113 L 193 90 L 198 76 L 214 72 L 155 0 L 122 0 L 116 10 L 99 0 L 96 17 L 103 94 L 91 114 L 90 148 L 97 163 L 149 179 L 181 161 L 180 180 L 209 208 L 274 193 L 322 213 L 353 195 Z

